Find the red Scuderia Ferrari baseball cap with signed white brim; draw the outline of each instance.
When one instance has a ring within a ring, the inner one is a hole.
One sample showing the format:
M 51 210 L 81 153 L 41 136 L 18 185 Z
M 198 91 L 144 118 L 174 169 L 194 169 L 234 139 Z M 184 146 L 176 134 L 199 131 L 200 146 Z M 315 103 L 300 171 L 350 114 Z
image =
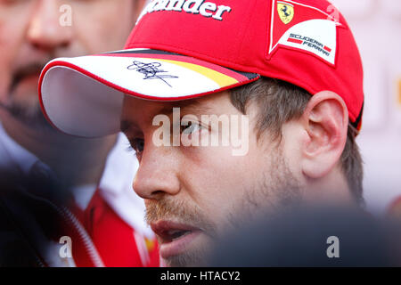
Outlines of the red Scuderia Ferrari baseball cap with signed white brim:
M 325 0 L 155 0 L 124 50 L 50 61 L 39 79 L 45 117 L 62 132 L 119 131 L 124 95 L 177 101 L 272 77 L 329 90 L 360 128 L 361 57 L 348 23 Z

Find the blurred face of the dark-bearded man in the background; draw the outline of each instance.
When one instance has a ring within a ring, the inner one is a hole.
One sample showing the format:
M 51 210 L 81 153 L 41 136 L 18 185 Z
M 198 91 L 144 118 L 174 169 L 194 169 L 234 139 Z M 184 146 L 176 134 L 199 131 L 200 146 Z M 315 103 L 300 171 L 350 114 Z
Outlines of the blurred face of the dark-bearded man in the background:
M 45 123 L 37 99 L 45 63 L 122 48 L 141 4 L 143 0 L 0 0 L 0 106 L 31 125 Z

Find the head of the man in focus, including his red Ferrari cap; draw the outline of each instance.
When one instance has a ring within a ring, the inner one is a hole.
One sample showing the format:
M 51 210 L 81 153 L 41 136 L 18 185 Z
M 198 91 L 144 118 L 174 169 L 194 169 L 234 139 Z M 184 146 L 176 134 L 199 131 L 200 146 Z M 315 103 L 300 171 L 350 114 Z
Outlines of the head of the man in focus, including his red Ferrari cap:
M 363 75 L 347 22 L 326 1 L 223 2 L 153 1 L 126 50 L 41 76 L 61 131 L 127 134 L 167 265 L 202 265 L 216 236 L 260 213 L 362 196 Z

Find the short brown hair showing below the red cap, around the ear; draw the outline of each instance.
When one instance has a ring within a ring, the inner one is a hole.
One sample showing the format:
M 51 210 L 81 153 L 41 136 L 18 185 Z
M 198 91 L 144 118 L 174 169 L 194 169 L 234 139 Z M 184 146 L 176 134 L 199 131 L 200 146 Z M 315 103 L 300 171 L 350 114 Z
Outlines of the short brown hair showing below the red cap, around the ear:
M 233 105 L 243 114 L 246 113 L 248 103 L 258 104 L 257 136 L 259 138 L 261 134 L 269 130 L 273 140 L 281 139 L 284 123 L 302 116 L 310 98 L 311 94 L 296 85 L 267 77 L 262 77 L 249 85 L 234 88 L 231 93 Z M 356 134 L 356 129 L 349 125 L 340 165 L 351 194 L 358 202 L 363 202 L 363 161 L 356 144 Z

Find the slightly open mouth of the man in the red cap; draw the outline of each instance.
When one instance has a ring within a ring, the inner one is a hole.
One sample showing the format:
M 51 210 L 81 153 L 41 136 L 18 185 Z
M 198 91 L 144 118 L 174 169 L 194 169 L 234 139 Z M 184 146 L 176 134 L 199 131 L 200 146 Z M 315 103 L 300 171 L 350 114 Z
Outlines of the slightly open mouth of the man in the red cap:
M 184 253 L 202 232 L 192 225 L 169 221 L 151 223 L 151 230 L 158 236 L 160 256 L 163 258 Z

